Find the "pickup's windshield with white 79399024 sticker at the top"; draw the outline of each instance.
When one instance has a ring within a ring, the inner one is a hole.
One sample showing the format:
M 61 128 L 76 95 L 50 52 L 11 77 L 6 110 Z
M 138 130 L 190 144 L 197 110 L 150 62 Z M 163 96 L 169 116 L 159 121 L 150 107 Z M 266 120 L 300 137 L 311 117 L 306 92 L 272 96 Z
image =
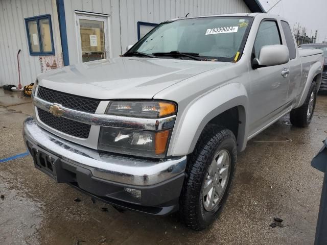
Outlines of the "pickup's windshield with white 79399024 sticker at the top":
M 186 53 L 202 60 L 237 61 L 242 54 L 251 19 L 205 17 L 164 22 L 125 55 L 138 52 L 160 58 L 191 59 L 180 54 Z M 171 52 L 174 55 L 162 54 Z

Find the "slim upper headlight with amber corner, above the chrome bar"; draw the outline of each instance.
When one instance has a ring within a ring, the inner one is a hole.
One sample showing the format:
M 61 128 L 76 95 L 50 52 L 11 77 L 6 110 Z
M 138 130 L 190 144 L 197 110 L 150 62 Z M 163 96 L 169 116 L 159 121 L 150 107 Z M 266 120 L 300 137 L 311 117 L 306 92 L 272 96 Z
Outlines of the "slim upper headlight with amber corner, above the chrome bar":
M 156 101 L 114 101 L 109 104 L 107 114 L 160 118 L 176 114 L 176 105 L 171 102 Z

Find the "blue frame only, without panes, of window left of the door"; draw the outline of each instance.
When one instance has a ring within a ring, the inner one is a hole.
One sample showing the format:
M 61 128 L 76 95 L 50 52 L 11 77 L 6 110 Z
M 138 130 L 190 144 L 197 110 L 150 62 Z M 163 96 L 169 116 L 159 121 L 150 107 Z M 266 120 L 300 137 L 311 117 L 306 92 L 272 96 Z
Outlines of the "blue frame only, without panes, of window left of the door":
M 50 36 L 51 36 L 51 44 L 52 44 L 52 51 L 51 52 L 44 52 L 43 51 L 41 31 L 40 31 L 40 20 L 41 19 L 48 19 L 49 20 Z M 33 52 L 32 51 L 32 46 L 31 46 L 30 29 L 29 29 L 29 26 L 28 26 L 28 22 L 29 21 L 34 21 L 34 20 L 36 21 L 36 24 L 37 24 L 38 41 L 39 41 L 39 46 L 40 46 L 40 51 L 39 52 Z M 25 18 L 25 27 L 26 27 L 27 40 L 28 40 L 28 45 L 29 45 L 29 52 L 30 52 L 31 56 L 55 55 L 55 45 L 54 45 L 54 41 L 53 41 L 52 22 L 51 22 L 51 15 L 50 14 L 44 14 L 44 15 Z

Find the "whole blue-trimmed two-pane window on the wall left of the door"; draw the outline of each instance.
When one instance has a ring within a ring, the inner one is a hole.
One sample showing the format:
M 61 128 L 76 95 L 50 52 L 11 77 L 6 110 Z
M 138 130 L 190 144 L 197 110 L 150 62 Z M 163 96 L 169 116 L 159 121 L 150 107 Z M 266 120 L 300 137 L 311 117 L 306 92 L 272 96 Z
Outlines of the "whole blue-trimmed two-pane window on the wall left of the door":
M 30 55 L 54 55 L 50 14 L 25 19 Z

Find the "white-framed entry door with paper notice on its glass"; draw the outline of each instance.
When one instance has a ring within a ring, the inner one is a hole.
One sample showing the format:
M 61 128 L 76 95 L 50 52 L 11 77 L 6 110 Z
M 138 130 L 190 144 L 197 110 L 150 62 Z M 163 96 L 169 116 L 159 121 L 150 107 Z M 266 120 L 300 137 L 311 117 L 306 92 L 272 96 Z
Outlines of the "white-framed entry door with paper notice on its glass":
M 80 62 L 109 56 L 108 17 L 77 14 L 77 44 Z

